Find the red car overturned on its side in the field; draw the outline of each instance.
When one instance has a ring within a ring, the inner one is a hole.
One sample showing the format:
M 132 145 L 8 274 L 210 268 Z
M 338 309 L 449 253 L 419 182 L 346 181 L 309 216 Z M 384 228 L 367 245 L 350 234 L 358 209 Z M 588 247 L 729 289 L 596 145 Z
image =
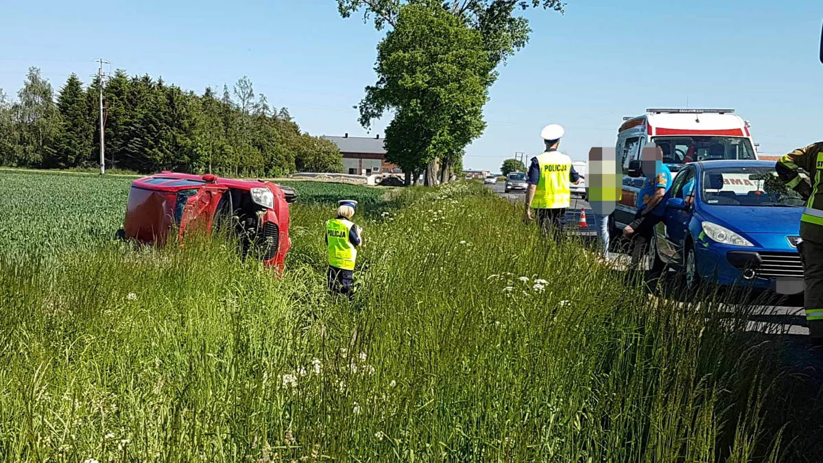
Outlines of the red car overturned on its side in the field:
M 195 229 L 227 227 L 244 259 L 254 255 L 282 269 L 291 248 L 288 203 L 295 199 L 293 189 L 269 181 L 163 171 L 132 182 L 119 236 L 162 246 L 170 233 L 182 242 Z

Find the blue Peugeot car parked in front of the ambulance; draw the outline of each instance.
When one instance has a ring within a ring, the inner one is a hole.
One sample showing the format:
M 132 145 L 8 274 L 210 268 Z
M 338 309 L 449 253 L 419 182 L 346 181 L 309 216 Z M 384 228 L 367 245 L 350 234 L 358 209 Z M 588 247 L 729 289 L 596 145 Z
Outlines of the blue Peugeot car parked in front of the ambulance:
M 658 269 L 721 285 L 802 292 L 797 242 L 805 202 L 774 161 L 700 161 L 672 182 L 649 257 Z

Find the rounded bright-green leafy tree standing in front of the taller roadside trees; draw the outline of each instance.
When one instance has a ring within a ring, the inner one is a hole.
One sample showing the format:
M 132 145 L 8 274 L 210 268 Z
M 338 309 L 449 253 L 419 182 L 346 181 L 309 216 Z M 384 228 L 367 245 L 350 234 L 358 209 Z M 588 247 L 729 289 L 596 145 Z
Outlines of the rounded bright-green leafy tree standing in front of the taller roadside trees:
M 368 127 L 394 110 L 386 132 L 390 160 L 405 171 L 427 165 L 432 185 L 439 159 L 459 156 L 485 128 L 492 68 L 481 35 L 441 8 L 407 5 L 378 45 L 376 70 L 379 81 L 366 89 L 360 123 Z

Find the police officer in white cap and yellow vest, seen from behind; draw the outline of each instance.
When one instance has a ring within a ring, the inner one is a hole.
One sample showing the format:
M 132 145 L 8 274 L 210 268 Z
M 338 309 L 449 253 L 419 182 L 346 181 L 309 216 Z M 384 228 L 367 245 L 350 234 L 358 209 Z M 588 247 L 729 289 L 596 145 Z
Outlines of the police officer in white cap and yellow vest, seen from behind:
M 569 183 L 576 185 L 580 181 L 580 175 L 571 165 L 571 158 L 557 151 L 563 133 L 560 125 L 546 125 L 540 133 L 546 151 L 532 157 L 528 167 L 526 220 L 532 221 L 532 208 L 535 208 L 537 222 L 546 231 L 551 227 L 562 230 L 565 209 L 571 205 Z

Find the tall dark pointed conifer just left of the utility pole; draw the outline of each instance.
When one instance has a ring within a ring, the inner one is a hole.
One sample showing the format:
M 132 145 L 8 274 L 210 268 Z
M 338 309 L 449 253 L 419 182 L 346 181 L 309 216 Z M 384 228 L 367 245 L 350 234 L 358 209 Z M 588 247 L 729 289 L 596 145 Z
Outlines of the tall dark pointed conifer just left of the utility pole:
M 60 133 L 54 145 L 49 167 L 86 166 L 94 149 L 95 120 L 86 101 L 86 91 L 77 74 L 72 72 L 60 89 L 57 107 L 62 116 Z

